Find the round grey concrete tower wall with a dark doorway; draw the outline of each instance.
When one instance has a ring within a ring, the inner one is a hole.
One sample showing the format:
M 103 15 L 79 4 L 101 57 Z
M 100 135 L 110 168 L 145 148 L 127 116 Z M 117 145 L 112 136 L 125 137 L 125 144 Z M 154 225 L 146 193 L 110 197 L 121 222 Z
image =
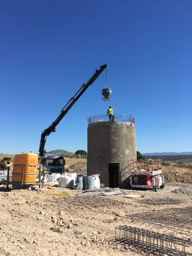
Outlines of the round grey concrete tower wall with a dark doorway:
M 129 188 L 128 159 L 137 159 L 135 126 L 129 122 L 91 123 L 87 128 L 87 174 L 109 184 L 109 163 L 119 163 L 119 187 Z

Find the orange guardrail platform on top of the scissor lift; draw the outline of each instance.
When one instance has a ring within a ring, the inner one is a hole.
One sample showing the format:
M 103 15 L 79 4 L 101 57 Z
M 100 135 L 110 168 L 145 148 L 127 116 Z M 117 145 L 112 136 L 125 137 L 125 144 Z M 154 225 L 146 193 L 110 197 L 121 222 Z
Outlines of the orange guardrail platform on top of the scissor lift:
M 130 171 L 158 171 L 162 168 L 162 161 L 160 159 L 153 160 L 153 159 L 129 159 L 128 166 Z

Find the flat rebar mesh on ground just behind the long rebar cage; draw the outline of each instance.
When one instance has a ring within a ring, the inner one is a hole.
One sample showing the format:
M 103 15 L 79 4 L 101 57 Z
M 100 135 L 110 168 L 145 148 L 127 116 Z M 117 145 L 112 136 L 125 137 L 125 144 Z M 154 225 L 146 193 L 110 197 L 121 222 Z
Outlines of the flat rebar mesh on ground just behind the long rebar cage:
M 180 230 L 186 235 L 185 237 L 192 234 L 192 206 L 131 214 L 128 218 L 142 224 L 148 223 L 153 227 L 158 226 L 158 229 L 163 229 L 163 232 L 174 233 Z

